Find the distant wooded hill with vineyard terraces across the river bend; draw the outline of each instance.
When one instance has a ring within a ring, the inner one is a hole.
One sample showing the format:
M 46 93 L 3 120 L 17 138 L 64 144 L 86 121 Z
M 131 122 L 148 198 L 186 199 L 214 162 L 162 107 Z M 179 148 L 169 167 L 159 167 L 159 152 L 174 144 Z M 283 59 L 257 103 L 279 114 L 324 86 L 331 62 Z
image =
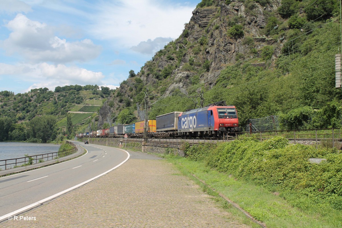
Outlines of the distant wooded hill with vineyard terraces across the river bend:
M 1 91 L 0 141 L 52 142 L 65 134 L 74 136 L 79 128 L 85 131 L 92 119 L 98 119 L 105 97 L 113 92 L 107 87 L 98 89 L 97 85 L 67 85 L 23 94 Z

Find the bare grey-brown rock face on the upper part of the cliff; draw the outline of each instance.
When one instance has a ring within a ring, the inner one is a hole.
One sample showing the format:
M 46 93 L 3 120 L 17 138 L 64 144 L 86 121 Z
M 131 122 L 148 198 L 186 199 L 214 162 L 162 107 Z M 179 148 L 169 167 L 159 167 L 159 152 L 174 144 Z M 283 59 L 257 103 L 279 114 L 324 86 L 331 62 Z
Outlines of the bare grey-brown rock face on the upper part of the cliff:
M 265 37 L 263 29 L 267 15 L 277 9 L 281 0 L 270 0 L 264 6 L 253 1 L 213 2 L 212 6 L 196 8 L 182 35 L 157 52 L 137 73 L 136 78 L 140 78 L 146 88 L 154 88 L 154 93 L 168 96 L 175 89 L 187 94 L 194 81 L 213 86 L 222 69 L 254 56 L 255 50 L 260 54 L 264 46 L 276 42 Z M 234 25 L 243 26 L 244 36 L 234 38 L 228 35 Z M 272 60 L 279 53 L 280 48 L 274 51 Z M 203 67 L 205 64 L 209 66 Z M 265 66 L 265 62 L 255 64 Z M 129 78 L 117 89 L 117 96 L 120 94 L 121 98 L 113 98 L 113 110 L 124 107 L 122 99 L 133 102 L 139 93 L 142 97 L 144 91 L 135 91 L 135 84 L 135 79 Z M 101 111 L 101 121 L 106 119 L 103 115 L 108 110 Z

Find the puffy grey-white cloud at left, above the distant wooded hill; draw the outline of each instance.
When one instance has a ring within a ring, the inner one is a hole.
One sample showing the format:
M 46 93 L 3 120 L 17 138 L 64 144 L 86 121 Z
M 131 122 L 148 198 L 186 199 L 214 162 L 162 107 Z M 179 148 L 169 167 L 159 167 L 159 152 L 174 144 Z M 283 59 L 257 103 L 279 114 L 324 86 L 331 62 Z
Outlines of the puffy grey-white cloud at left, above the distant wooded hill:
M 101 52 L 101 46 L 89 39 L 67 42 L 54 36 L 52 27 L 31 21 L 23 14 L 18 14 L 6 27 L 12 32 L 4 40 L 3 49 L 9 55 L 23 55 L 32 63 L 86 62 L 96 58 Z

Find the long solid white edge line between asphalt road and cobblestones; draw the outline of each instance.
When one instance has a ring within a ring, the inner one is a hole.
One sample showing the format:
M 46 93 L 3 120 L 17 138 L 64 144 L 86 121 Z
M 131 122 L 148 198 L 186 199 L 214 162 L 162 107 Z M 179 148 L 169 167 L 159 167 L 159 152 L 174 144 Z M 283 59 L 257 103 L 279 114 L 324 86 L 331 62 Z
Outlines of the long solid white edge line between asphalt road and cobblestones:
M 119 149 L 119 148 L 115 148 L 115 149 Z M 123 150 L 123 149 L 119 149 L 119 150 Z M 68 191 L 71 191 L 71 190 L 73 190 L 73 189 L 75 189 L 75 188 L 78 188 L 78 187 L 80 187 L 80 186 L 82 186 L 82 185 L 85 185 L 85 184 L 91 182 L 92 180 L 94 180 L 94 179 L 96 179 L 96 178 L 98 178 L 98 177 L 100 177 L 100 176 L 103 176 L 103 175 L 109 173 L 109 172 L 112 171 L 112 170 L 115 170 L 117 167 L 119 167 L 119 166 L 122 165 L 123 163 L 127 162 L 128 159 L 130 158 L 129 152 L 127 152 L 126 150 L 123 150 L 123 151 L 125 151 L 125 152 L 127 153 L 127 155 L 128 155 L 127 158 L 126 158 L 123 162 L 121 162 L 120 164 L 118 164 L 117 166 L 111 168 L 110 170 L 108 170 L 108 171 L 106 171 L 106 172 L 104 172 L 104 173 L 102 173 L 102 174 L 100 174 L 100 175 L 97 175 L 97 176 L 95 176 L 95 177 L 93 177 L 93 178 L 91 178 L 91 179 L 89 179 L 89 180 L 86 180 L 85 182 L 82 182 L 81 184 L 75 185 L 74 187 L 68 188 L 68 189 L 66 189 L 66 190 L 64 190 L 64 191 L 61 191 L 61 192 L 58 192 L 58 193 L 56 193 L 56 194 L 53 195 L 53 196 L 50 196 L 50 197 L 45 198 L 45 199 L 42 199 L 42 200 L 37 201 L 37 202 L 35 202 L 35 203 L 32 203 L 32 204 L 30 204 L 30 205 L 28 205 L 28 206 L 22 207 L 21 209 L 18 209 L 18 210 L 16 210 L 16 211 L 13 211 L 13 212 L 11 212 L 11 213 L 8 213 L 8 214 L 6 214 L 6 215 L 3 215 L 3 216 L 0 217 L 0 221 L 3 220 L 3 219 L 5 219 L 5 218 L 8 218 L 9 216 L 16 215 L 16 214 L 18 214 L 18 213 L 21 213 L 21 212 L 23 212 L 23 211 L 26 211 L 27 209 L 30 209 L 31 207 L 37 206 L 37 205 L 42 204 L 42 203 L 44 203 L 44 202 L 46 202 L 46 201 L 49 201 L 49 200 L 51 200 L 51 199 L 53 199 L 53 198 L 56 198 L 57 196 L 60 196 L 60 195 L 66 193 L 66 192 L 68 192 Z

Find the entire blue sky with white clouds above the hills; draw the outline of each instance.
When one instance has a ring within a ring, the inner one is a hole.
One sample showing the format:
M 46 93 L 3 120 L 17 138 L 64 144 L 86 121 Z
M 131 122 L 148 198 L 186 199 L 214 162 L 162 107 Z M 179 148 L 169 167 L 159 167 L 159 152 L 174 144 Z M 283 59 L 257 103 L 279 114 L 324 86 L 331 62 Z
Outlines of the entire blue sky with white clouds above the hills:
M 200 0 L 0 0 L 0 91 L 115 89 L 179 37 Z

